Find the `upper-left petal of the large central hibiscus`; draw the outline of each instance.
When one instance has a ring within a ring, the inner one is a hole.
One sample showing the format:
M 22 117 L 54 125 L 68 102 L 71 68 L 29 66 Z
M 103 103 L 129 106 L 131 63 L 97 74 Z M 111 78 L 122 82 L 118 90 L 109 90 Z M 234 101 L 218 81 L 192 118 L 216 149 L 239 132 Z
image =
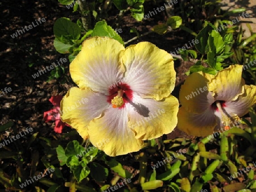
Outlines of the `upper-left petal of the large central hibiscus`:
M 123 50 L 121 43 L 108 37 L 86 39 L 70 64 L 73 81 L 80 88 L 89 87 L 107 95 L 109 86 L 123 77 L 125 69 L 119 64 Z

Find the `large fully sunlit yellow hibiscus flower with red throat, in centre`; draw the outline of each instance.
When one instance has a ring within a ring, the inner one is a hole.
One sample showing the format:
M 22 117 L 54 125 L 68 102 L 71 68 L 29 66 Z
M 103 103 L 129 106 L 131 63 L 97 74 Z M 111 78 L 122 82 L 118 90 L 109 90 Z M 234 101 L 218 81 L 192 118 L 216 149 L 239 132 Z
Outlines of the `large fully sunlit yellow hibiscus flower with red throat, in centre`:
M 143 140 L 170 133 L 179 102 L 170 95 L 176 73 L 170 54 L 141 42 L 124 48 L 91 37 L 70 65 L 72 87 L 61 101 L 61 119 L 109 156 L 139 151 Z M 104 145 L 98 143 L 104 142 Z

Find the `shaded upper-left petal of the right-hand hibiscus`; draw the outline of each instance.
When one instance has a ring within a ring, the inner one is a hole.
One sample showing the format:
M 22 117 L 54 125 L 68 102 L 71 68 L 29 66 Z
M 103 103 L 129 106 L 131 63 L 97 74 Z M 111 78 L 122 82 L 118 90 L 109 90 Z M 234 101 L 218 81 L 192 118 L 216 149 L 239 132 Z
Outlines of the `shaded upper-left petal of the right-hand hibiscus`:
M 214 76 L 207 73 L 192 73 L 180 88 L 179 99 L 185 110 L 200 114 L 214 102 L 208 82 Z

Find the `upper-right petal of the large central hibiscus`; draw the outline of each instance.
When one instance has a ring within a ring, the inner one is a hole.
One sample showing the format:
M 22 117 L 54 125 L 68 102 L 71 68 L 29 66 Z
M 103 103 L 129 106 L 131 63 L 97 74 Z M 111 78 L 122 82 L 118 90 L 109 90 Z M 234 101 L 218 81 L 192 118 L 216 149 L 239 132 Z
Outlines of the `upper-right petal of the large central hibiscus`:
M 141 42 L 130 45 L 121 61 L 126 67 L 124 81 L 142 98 L 161 100 L 174 90 L 174 60 L 154 44 Z

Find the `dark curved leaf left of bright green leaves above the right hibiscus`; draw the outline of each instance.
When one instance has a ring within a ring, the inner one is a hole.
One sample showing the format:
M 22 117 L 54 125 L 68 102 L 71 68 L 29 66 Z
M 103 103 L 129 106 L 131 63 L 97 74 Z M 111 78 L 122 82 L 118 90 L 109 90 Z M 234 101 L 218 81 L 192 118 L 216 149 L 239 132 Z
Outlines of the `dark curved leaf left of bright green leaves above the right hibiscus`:
M 207 25 L 196 36 L 196 40 L 199 41 L 199 43 L 196 43 L 195 47 L 203 55 L 207 52 L 207 39 L 209 37 L 209 33 L 212 32 L 212 30 L 213 28 L 210 25 Z

